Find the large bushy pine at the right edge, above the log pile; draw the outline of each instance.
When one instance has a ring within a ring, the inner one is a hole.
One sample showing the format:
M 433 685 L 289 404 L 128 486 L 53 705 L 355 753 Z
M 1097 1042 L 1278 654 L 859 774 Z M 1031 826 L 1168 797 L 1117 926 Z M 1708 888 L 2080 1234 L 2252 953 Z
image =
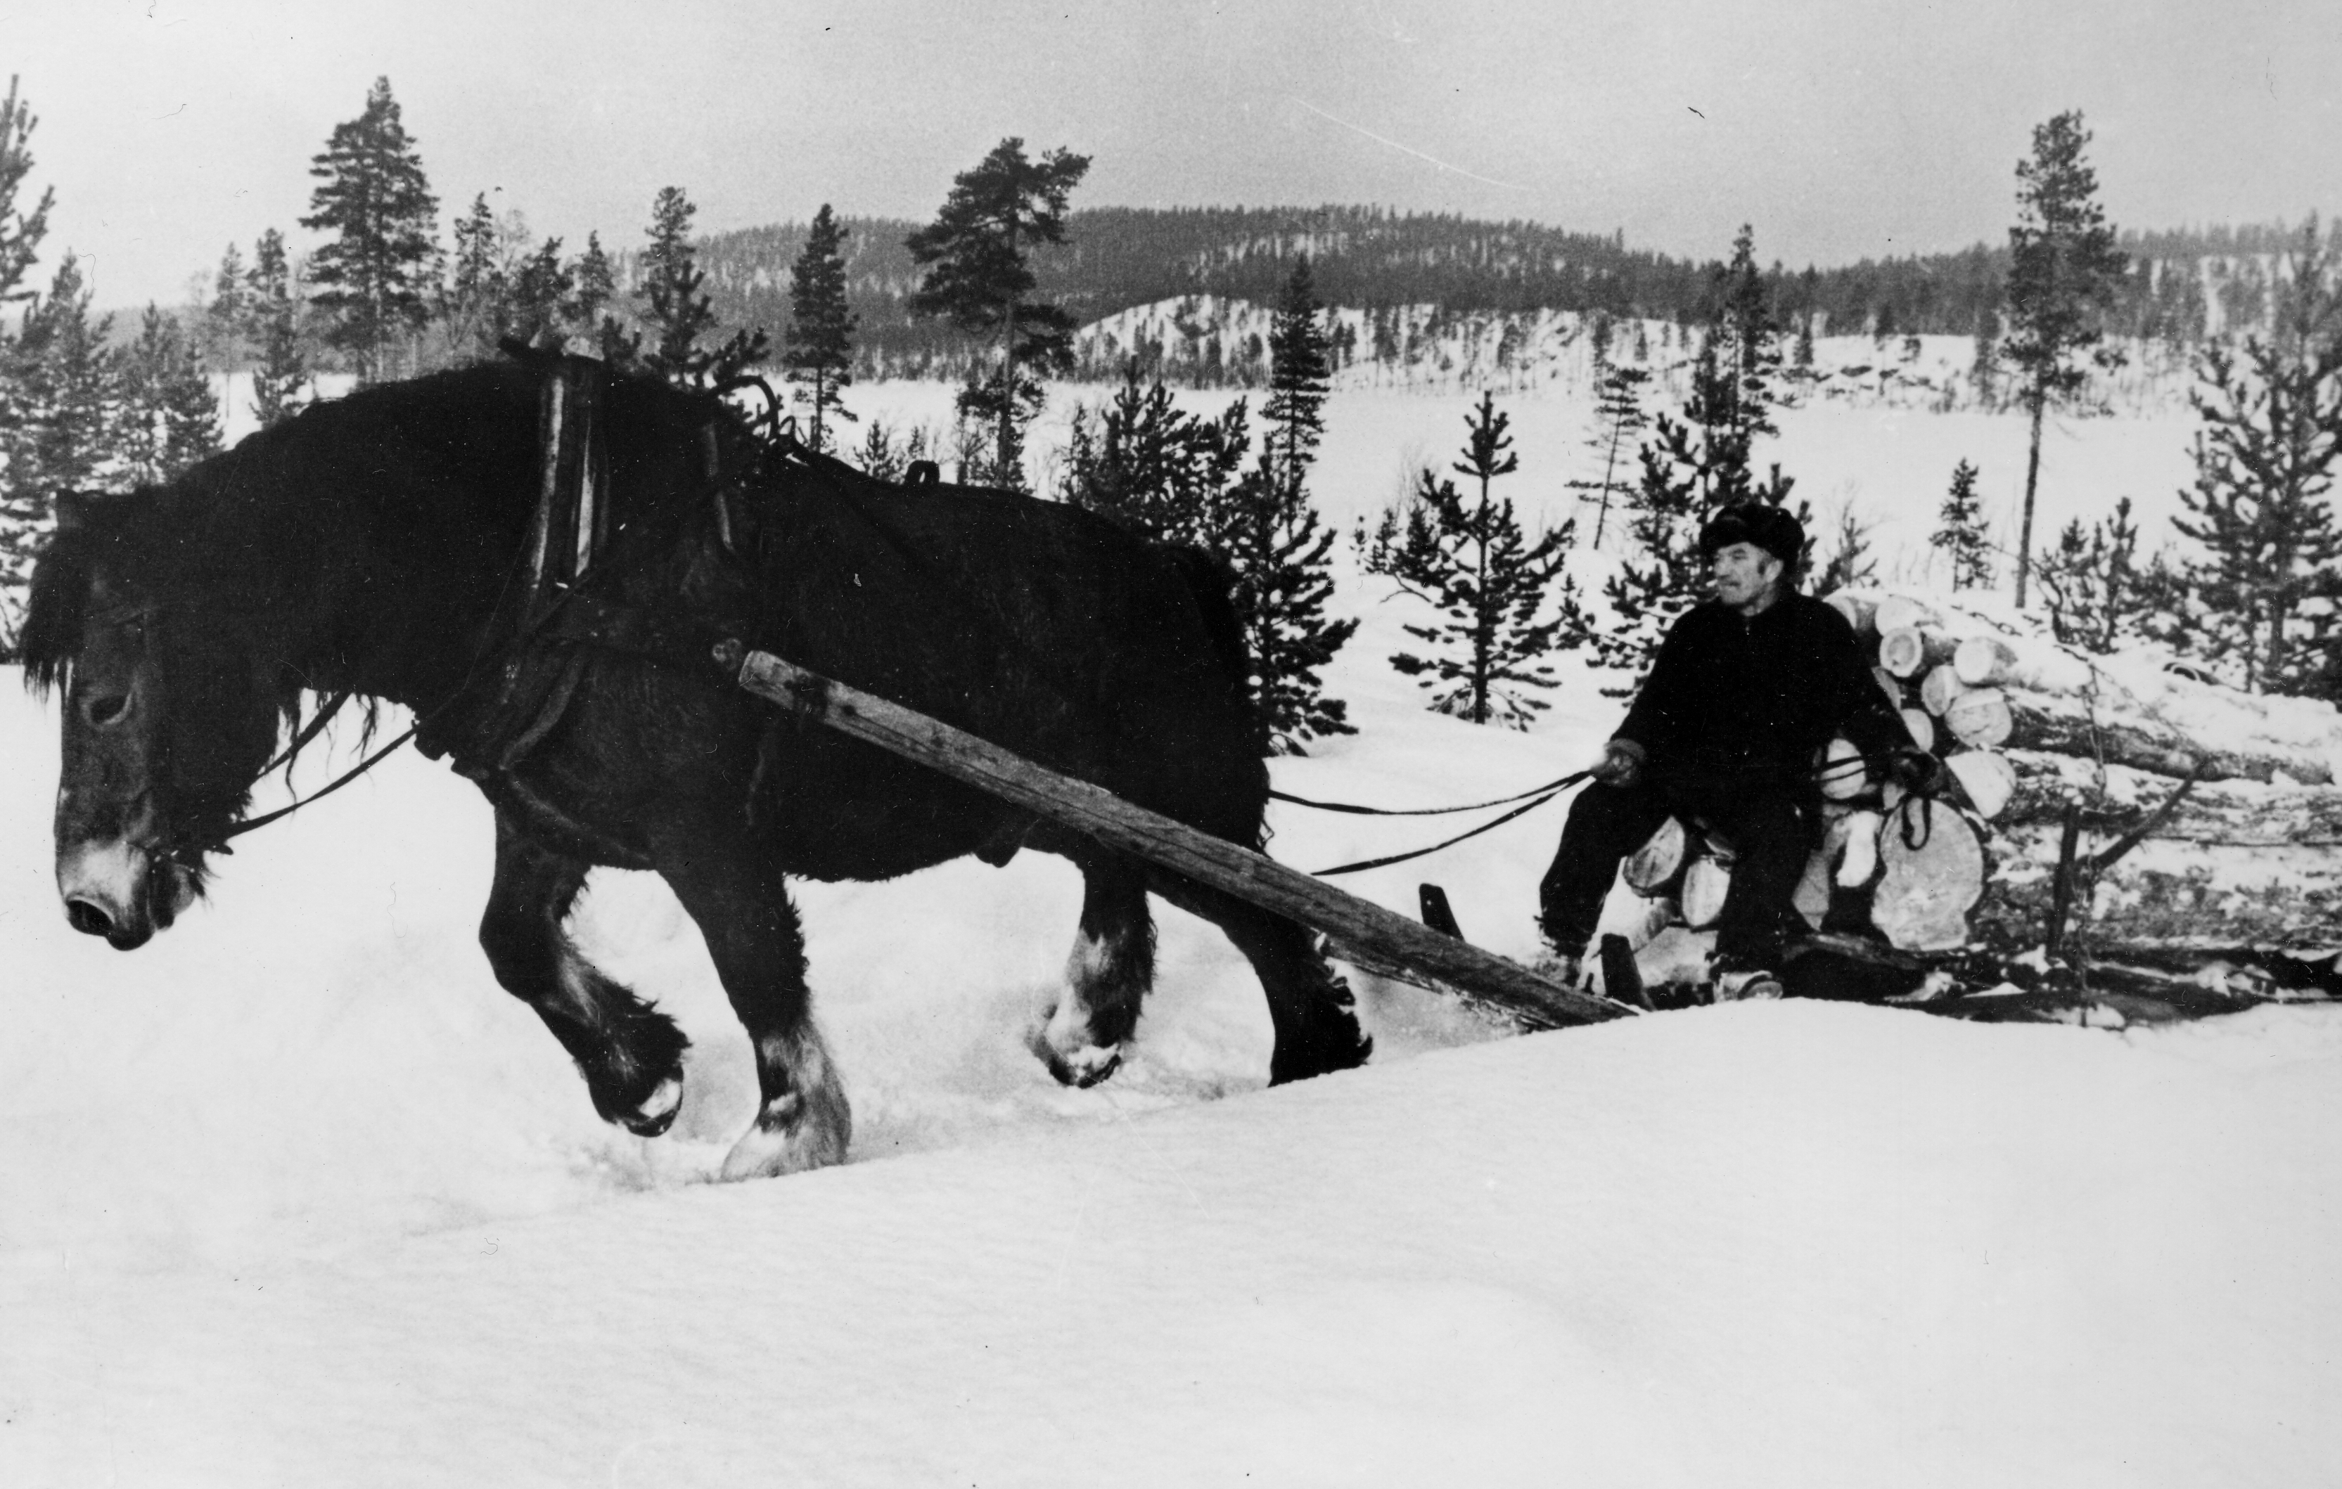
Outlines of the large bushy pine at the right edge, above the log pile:
M 2328 492 L 2342 459 L 2342 255 L 2316 218 L 2302 229 L 2272 286 L 2267 335 L 2244 337 L 2241 356 L 2211 344 L 2190 393 L 2194 487 L 2173 527 L 2206 557 L 2190 588 L 2234 644 L 2244 686 L 2321 686 L 2326 656 L 2300 656 L 2305 602 L 2319 611 L 2342 595 L 2342 560 Z

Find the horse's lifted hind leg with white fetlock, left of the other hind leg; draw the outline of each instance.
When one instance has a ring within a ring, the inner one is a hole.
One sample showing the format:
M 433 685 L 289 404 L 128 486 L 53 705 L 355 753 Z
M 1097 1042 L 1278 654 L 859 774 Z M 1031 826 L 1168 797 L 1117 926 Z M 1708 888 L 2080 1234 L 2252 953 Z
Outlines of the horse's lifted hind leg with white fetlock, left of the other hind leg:
M 1155 983 L 1155 918 L 1145 869 L 1084 855 L 1082 929 L 1066 958 L 1066 993 L 1033 1035 L 1033 1054 L 1068 1086 L 1096 1086 L 1122 1063 L 1138 1004 Z

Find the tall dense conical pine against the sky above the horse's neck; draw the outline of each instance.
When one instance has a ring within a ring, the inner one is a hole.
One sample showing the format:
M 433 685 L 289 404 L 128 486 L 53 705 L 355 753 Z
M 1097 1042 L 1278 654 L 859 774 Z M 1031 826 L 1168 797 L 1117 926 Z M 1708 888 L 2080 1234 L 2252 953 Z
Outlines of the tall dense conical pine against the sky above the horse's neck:
M 393 346 L 424 323 L 438 262 L 438 199 L 389 77 L 375 80 L 363 115 L 335 124 L 309 173 L 319 187 L 300 225 L 335 234 L 309 260 L 311 304 L 333 316 L 330 339 L 351 354 L 358 379 L 375 382 Z

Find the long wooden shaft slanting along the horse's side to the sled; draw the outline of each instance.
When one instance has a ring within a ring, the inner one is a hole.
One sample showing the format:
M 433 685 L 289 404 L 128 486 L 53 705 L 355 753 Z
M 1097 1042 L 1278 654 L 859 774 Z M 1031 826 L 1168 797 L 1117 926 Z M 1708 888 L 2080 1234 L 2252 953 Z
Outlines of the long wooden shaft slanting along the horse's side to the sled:
M 1344 894 L 1276 859 L 1201 833 L 1185 822 L 1122 801 L 1103 787 L 1059 775 L 899 702 L 806 672 L 763 651 L 740 660 L 740 686 L 785 709 L 981 787 L 1052 822 L 1075 826 L 1108 848 L 1162 864 L 1265 911 L 1363 946 L 1433 976 L 1468 997 L 1492 1002 L 1534 1025 L 1560 1028 L 1621 1018 L 1630 1009 L 1550 983 L 1527 967 L 1443 936 L 1396 911 Z

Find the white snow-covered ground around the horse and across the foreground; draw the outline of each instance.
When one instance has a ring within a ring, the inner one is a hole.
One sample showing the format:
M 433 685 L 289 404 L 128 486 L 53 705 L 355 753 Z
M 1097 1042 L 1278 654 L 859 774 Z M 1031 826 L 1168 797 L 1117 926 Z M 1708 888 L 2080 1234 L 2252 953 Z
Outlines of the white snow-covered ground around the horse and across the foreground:
M 949 389 L 857 389 L 941 421 Z M 1194 407 L 1220 398 L 1197 396 Z M 1464 398 L 1342 393 L 1342 529 Z M 1522 398 L 1515 496 L 1583 433 Z M 1042 431 L 1063 428 L 1063 403 Z M 2171 421 L 2054 438 L 2045 520 L 2150 503 Z M 1932 524 L 2014 417 L 1815 407 L 1766 459 Z M 2014 457 L 2014 459 L 2012 459 Z M 2002 487 L 2007 489 L 2007 487 Z M 2098 503 L 2096 508 L 2091 503 Z M 1279 784 L 1398 805 L 1571 768 L 1419 709 L 1356 576 L 1363 733 Z M 2342 1018 L 2108 1035 L 1766 1004 L 1504 1039 L 1363 983 L 1363 1072 L 1262 1091 L 1241 960 L 1162 908 L 1134 1058 L 1026 1054 L 1075 876 L 1026 855 L 806 885 L 852 1164 L 703 1180 L 752 1110 L 689 920 L 597 876 L 581 936 L 691 1032 L 677 1128 L 593 1119 L 473 946 L 489 817 L 400 754 L 239 843 L 119 955 L 49 883 L 54 716 L 0 674 L 0 1484 L 2314 1484 L 2342 1461 Z M 344 740 L 342 747 L 351 747 Z M 323 777 L 323 761 L 304 766 Z M 1546 808 L 1354 883 L 1532 948 Z M 1279 815 L 1323 866 L 1422 822 Z

